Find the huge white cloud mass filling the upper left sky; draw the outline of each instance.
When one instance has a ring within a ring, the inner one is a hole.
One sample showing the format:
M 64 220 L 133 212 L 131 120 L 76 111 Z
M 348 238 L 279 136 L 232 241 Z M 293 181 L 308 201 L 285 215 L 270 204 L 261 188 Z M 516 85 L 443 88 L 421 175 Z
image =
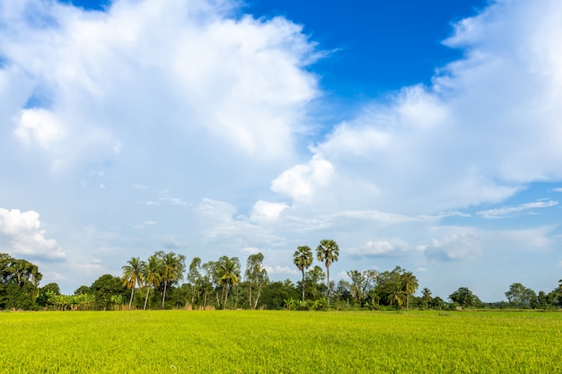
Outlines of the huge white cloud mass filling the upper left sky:
M 284 159 L 319 94 L 304 67 L 320 54 L 301 26 L 237 18 L 235 6 L 116 0 L 107 12 L 85 12 L 7 0 L 0 92 L 19 102 L 0 120 L 15 118 L 14 136 L 52 162 L 113 159 L 170 132 L 184 146 Z

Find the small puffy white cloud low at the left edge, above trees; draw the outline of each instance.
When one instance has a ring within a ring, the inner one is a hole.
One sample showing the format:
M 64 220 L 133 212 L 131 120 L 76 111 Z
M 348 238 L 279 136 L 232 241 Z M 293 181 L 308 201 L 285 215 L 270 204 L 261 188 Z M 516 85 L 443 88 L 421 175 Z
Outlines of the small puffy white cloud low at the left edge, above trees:
M 55 239 L 47 239 L 40 214 L 34 211 L 0 208 L 0 240 L 7 239 L 13 256 L 64 259 L 65 252 Z

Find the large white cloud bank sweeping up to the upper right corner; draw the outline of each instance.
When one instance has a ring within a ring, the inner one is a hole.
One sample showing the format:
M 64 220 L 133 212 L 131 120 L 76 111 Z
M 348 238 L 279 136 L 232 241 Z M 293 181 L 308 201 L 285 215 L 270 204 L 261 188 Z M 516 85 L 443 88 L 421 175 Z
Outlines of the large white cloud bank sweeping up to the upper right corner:
M 368 104 L 315 144 L 311 163 L 329 163 L 338 182 L 330 198 L 345 206 L 355 194 L 366 208 L 428 214 L 499 203 L 533 181 L 562 178 L 562 5 L 540 4 L 498 2 L 461 21 L 445 44 L 465 57 L 430 86 Z M 311 169 L 285 171 L 272 189 L 310 194 L 303 175 Z

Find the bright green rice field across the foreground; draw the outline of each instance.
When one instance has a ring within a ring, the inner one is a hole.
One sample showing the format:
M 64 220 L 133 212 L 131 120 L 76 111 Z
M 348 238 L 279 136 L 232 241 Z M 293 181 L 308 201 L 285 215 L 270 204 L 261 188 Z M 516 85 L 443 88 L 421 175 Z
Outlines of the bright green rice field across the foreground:
M 5 373 L 562 372 L 562 313 L 0 313 Z

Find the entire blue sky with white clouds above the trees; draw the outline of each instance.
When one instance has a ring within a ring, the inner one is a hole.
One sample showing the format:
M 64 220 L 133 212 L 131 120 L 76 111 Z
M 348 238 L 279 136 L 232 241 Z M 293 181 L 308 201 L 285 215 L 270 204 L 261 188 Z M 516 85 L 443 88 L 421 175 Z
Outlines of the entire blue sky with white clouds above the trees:
M 0 252 L 68 294 L 157 250 L 296 282 L 334 239 L 336 281 L 549 292 L 560 39 L 553 0 L 4 0 Z

